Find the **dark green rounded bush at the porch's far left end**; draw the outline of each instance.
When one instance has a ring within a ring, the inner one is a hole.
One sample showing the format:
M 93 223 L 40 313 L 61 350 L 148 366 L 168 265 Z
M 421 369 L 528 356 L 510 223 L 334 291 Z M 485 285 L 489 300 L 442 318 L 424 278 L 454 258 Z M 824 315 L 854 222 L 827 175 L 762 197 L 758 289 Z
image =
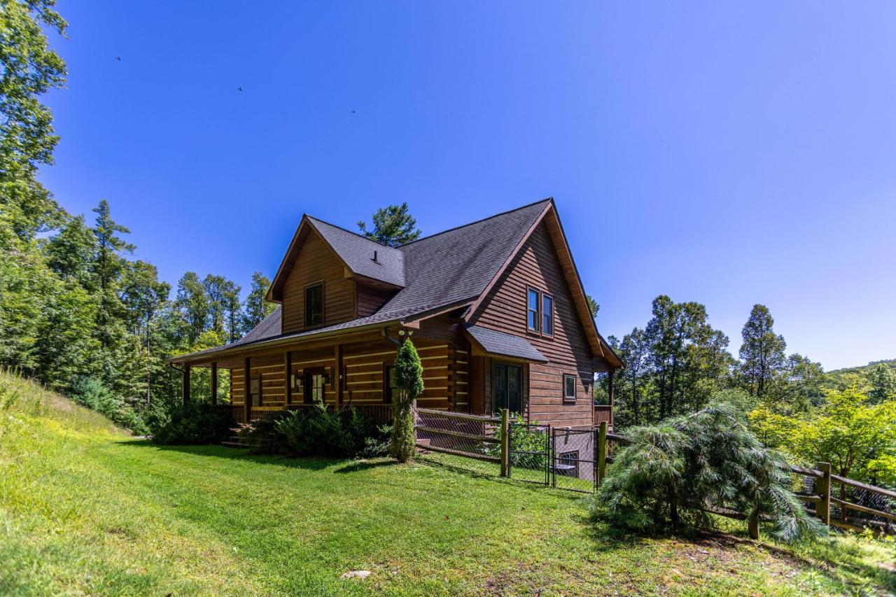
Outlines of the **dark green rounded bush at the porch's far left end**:
M 231 434 L 231 417 L 229 404 L 170 402 L 152 412 L 147 426 L 159 444 L 217 444 Z

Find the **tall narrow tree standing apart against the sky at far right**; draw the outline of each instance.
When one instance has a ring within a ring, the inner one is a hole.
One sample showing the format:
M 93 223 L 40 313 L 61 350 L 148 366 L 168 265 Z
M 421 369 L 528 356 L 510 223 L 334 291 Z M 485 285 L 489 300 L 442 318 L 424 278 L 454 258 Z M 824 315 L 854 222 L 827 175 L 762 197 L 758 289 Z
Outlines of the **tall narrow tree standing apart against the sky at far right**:
M 754 305 L 744 324 L 740 347 L 740 373 L 750 394 L 762 398 L 772 380 L 784 368 L 784 336 L 774 332 L 775 320 L 768 307 Z

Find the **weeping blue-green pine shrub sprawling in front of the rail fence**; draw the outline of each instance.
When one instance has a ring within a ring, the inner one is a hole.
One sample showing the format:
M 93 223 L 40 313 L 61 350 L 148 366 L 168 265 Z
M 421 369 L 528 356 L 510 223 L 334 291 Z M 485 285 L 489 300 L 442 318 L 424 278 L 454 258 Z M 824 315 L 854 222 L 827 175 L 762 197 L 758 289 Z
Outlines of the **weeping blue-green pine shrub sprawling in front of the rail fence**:
M 784 457 L 762 446 L 736 407 L 702 411 L 633 428 L 614 454 L 591 512 L 634 532 L 712 526 L 706 509 L 723 507 L 766 520 L 772 535 L 795 541 L 823 532 L 790 490 Z

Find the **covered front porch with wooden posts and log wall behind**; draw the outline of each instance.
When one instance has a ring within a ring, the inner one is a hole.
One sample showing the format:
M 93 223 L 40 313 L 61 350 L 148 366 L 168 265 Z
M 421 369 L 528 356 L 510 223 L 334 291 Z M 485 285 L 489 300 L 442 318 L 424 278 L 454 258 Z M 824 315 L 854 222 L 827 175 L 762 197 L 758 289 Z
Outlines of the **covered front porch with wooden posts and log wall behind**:
M 223 347 L 172 359 L 183 375 L 183 399 L 192 399 L 194 368 L 211 371 L 211 402 L 229 403 L 235 422 L 268 413 L 324 404 L 354 406 L 377 423 L 392 420 L 390 368 L 401 341 L 413 335 L 424 371 L 418 404 L 444 411 L 470 411 L 468 342 L 404 328 L 378 328 L 326 338 Z M 220 372 L 229 373 L 220 395 Z M 206 394 L 207 395 L 207 394 Z

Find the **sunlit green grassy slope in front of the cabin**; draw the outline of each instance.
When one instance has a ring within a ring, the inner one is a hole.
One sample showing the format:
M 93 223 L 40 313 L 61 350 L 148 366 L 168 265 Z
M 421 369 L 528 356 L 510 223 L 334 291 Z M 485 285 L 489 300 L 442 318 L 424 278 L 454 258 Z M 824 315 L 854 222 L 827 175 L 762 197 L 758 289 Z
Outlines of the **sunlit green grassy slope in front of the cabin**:
M 572 494 L 421 464 L 162 449 L 4 385 L 23 398 L 0 408 L 2 594 L 896 591 L 875 563 L 892 551 L 865 541 L 614 538 Z M 374 574 L 340 580 L 352 569 Z

